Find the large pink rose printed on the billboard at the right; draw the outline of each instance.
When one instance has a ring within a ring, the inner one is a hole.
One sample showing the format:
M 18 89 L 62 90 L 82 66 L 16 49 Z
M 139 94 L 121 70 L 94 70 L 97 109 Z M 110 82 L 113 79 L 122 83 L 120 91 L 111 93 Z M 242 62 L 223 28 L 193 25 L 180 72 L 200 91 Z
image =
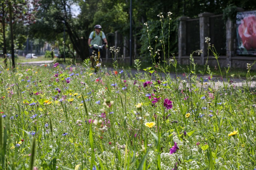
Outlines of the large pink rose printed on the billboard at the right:
M 256 17 L 247 16 L 238 27 L 239 36 L 247 50 L 256 48 Z

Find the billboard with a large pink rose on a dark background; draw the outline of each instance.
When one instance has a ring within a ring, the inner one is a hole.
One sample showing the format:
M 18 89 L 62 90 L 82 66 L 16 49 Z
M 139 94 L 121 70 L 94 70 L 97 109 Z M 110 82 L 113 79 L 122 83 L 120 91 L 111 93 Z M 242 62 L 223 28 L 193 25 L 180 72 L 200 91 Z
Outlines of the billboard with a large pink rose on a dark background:
M 256 10 L 236 14 L 238 55 L 256 56 Z

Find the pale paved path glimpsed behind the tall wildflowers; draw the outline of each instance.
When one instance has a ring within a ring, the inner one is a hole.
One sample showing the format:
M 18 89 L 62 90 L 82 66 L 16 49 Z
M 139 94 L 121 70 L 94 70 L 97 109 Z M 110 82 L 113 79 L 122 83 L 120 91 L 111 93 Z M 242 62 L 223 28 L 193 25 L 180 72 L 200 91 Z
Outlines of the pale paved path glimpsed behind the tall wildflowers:
M 41 64 L 52 64 L 53 63 L 53 60 L 47 60 L 47 61 L 29 61 L 29 62 L 24 62 L 24 63 L 20 63 L 22 65 L 41 65 Z M 65 67 L 65 65 L 63 64 L 60 64 L 60 66 L 62 67 Z M 111 67 L 108 67 L 107 68 L 108 71 L 114 71 L 113 68 Z M 120 71 L 120 70 L 119 70 Z M 118 71 L 118 72 L 119 72 Z M 136 69 L 131 69 L 131 73 L 132 75 L 134 76 L 138 71 Z M 145 74 L 146 72 L 144 70 L 141 70 L 140 72 L 142 72 L 143 74 Z M 131 76 L 130 73 L 128 73 L 128 76 Z M 171 78 L 175 78 L 175 73 L 169 73 L 169 76 Z M 177 76 L 179 76 L 180 78 L 182 79 L 185 79 L 181 73 L 179 73 Z M 162 73 L 162 77 L 164 78 L 164 74 Z M 197 75 L 198 78 L 200 78 L 200 75 L 198 74 Z M 204 75 L 203 79 L 207 79 L 209 76 L 208 75 Z M 153 79 L 154 79 L 154 76 L 153 76 Z M 221 80 L 221 77 L 220 76 L 213 76 L 212 80 L 215 81 L 215 87 L 218 87 L 218 86 L 222 86 L 223 83 L 222 83 L 222 80 Z M 235 86 L 243 86 L 245 84 L 245 78 L 230 78 L 233 85 Z M 224 81 L 226 81 L 226 78 L 224 78 Z M 207 82 L 207 81 L 206 81 Z M 252 89 L 255 89 L 256 88 L 256 80 L 254 78 L 254 80 L 251 81 L 251 84 L 250 84 L 250 87 Z

